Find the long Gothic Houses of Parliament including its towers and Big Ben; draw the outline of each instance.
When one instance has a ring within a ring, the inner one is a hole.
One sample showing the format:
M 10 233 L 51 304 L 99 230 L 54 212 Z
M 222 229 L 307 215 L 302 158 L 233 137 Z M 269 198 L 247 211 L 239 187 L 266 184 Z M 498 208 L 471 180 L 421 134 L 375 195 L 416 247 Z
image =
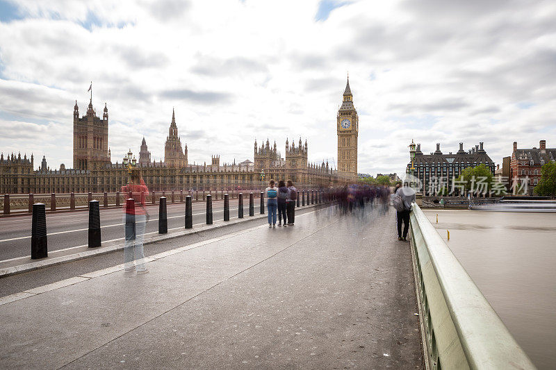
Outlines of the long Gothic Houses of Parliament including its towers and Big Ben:
M 349 78 L 336 117 L 338 136 L 338 168 L 325 161 L 308 161 L 308 144 L 301 138 L 297 145 L 286 140 L 284 158 L 276 142 L 254 142 L 253 161 L 220 163 L 220 155 L 212 155 L 203 165 L 188 161 L 187 144 L 178 135 L 175 112 L 164 147 L 164 161 L 151 160 L 145 137 L 139 158 L 131 150 L 122 160 L 111 159 L 108 147 L 108 107 L 102 117 L 92 106 L 92 96 L 85 115 L 79 116 L 77 101 L 73 113 L 73 168 L 60 165 L 51 169 L 43 156 L 35 170 L 33 154 L 0 154 L 0 192 L 2 194 L 48 194 L 117 192 L 129 180 L 130 167 L 138 167 L 149 190 L 221 190 L 256 188 L 270 178 L 291 179 L 298 187 L 329 187 L 357 181 L 357 136 L 359 117 L 353 105 Z

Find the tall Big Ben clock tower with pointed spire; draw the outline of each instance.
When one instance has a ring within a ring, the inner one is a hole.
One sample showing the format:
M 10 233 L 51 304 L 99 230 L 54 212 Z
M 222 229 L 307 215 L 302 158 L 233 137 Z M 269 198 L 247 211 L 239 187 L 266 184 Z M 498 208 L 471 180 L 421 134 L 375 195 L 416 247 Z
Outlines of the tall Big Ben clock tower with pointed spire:
M 353 106 L 350 90 L 350 77 L 343 92 L 342 106 L 338 110 L 338 175 L 357 180 L 357 135 L 359 133 L 359 116 Z

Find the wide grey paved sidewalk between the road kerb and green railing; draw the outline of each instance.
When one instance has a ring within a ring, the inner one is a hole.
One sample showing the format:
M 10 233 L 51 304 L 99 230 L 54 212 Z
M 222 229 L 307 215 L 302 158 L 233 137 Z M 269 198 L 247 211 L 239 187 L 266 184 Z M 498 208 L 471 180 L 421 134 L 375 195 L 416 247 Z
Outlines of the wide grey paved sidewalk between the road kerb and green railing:
M 393 212 L 331 208 L 183 246 L 0 305 L 0 367 L 422 367 L 409 244 Z

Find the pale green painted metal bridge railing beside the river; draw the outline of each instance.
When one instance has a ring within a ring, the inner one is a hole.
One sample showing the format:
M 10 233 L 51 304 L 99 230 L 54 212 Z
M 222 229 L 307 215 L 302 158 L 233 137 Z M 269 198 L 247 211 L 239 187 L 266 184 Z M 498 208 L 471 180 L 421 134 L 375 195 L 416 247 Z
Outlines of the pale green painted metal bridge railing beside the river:
M 536 369 L 415 203 L 411 248 L 431 369 Z

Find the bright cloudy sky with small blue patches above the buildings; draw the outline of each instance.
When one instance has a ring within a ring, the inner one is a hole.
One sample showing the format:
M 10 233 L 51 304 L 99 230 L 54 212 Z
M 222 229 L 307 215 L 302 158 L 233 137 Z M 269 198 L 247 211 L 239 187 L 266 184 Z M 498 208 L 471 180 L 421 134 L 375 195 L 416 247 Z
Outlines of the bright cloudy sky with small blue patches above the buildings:
M 335 163 L 347 72 L 359 172 L 404 171 L 412 139 L 498 163 L 514 140 L 556 147 L 552 0 L 0 0 L 0 151 L 71 166 L 92 81 L 113 162 L 143 135 L 163 157 L 174 107 L 190 162 L 302 137 Z

